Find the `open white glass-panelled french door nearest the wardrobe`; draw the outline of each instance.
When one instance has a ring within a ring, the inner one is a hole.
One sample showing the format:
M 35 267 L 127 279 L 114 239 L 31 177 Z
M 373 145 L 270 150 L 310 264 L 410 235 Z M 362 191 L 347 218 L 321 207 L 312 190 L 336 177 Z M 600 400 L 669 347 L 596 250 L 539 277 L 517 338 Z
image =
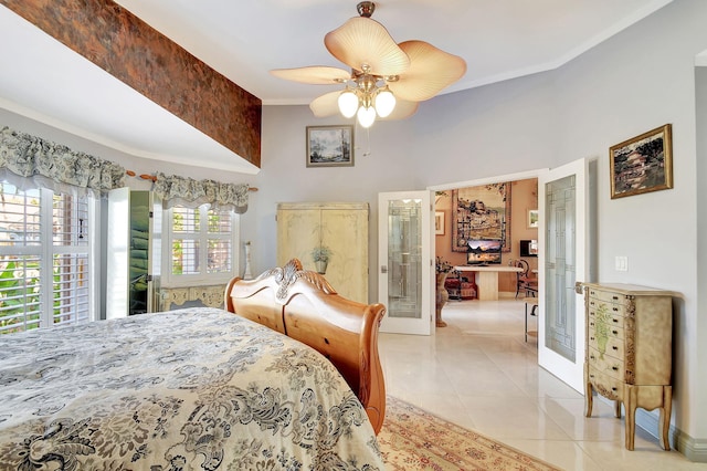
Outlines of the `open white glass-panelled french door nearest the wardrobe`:
M 378 293 L 387 307 L 380 329 L 430 335 L 434 318 L 432 193 L 380 193 L 378 203 Z

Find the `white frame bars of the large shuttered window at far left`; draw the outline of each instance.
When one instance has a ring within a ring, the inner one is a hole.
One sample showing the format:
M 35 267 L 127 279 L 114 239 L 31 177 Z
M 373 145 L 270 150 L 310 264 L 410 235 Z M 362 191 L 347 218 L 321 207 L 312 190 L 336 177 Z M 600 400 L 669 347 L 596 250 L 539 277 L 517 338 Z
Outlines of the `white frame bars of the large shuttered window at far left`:
M 74 323 L 74 321 L 54 324 L 54 286 L 53 286 L 53 263 L 54 255 L 71 253 L 87 253 L 87 292 L 88 292 L 88 316 L 84 321 L 93 322 L 99 317 L 99 283 L 97 283 L 98 265 L 98 241 L 101 239 L 98 221 L 101 220 L 99 199 L 88 196 L 87 210 L 87 237 L 86 245 L 54 245 L 53 243 L 53 197 L 54 191 L 48 188 L 39 188 L 40 192 L 40 245 L 17 245 L 0 247 L 2 255 L 38 255 L 40 260 L 40 326 L 39 328 L 52 328 L 59 325 Z

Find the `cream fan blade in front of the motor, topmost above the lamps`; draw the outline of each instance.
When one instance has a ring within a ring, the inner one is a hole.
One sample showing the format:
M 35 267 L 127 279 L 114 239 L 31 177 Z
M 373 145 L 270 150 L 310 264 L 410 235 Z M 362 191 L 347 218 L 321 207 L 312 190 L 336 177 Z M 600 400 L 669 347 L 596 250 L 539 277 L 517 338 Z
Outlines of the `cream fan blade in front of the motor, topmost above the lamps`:
M 349 67 L 374 75 L 399 75 L 410 66 L 410 59 L 393 41 L 386 28 L 370 18 L 356 17 L 324 36 L 327 50 Z

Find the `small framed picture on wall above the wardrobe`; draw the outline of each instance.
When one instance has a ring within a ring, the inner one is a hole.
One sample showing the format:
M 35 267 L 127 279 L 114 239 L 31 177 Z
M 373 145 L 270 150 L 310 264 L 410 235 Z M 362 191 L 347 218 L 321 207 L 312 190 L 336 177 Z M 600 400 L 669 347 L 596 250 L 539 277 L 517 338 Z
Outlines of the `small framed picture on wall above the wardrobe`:
M 307 167 L 352 167 L 354 126 L 307 126 Z

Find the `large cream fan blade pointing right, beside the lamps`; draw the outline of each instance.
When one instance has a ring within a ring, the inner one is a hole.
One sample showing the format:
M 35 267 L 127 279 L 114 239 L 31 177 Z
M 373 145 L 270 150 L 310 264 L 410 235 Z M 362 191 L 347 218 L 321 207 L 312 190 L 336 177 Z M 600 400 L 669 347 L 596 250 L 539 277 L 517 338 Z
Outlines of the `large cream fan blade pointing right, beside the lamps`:
M 400 49 L 410 56 L 410 69 L 389 82 L 397 97 L 412 102 L 432 98 L 466 73 L 466 62 L 424 41 L 405 41 Z

